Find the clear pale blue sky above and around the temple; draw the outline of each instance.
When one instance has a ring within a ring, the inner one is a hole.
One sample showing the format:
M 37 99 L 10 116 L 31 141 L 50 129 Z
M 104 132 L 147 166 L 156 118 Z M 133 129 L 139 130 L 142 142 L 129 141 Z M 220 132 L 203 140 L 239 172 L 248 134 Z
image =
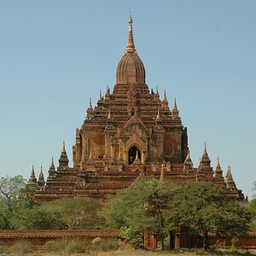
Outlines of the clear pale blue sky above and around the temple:
M 251 197 L 256 180 L 256 2 L 0 1 L 0 176 L 47 176 L 89 98 L 113 90 L 129 9 L 149 88 L 174 96 L 198 166 L 207 143 Z

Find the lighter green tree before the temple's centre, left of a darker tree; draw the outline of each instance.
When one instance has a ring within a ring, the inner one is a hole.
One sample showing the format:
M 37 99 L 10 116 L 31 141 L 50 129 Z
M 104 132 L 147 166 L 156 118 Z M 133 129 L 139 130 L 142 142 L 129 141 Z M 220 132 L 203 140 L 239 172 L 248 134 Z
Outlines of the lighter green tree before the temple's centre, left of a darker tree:
M 130 188 L 108 199 L 104 212 L 110 227 L 135 227 L 141 232 L 152 230 L 164 247 L 167 234 L 164 211 L 172 198 L 173 186 L 154 178 L 140 177 Z

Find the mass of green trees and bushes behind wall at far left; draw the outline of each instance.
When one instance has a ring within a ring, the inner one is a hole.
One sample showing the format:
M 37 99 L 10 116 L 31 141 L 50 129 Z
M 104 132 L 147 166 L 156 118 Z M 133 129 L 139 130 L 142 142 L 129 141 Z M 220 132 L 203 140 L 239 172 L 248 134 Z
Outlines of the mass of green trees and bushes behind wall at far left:
M 90 198 L 67 198 L 38 206 L 34 189 L 21 176 L 0 179 L 0 229 L 90 229 L 100 226 L 100 204 Z

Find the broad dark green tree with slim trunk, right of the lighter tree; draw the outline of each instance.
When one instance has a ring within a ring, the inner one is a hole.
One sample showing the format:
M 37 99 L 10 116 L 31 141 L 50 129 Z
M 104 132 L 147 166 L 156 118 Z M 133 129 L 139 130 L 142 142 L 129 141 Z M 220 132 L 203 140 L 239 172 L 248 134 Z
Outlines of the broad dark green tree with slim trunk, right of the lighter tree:
M 246 202 L 231 201 L 223 186 L 213 183 L 189 183 L 177 189 L 166 210 L 167 223 L 186 226 L 204 237 L 208 233 L 241 236 L 252 218 Z

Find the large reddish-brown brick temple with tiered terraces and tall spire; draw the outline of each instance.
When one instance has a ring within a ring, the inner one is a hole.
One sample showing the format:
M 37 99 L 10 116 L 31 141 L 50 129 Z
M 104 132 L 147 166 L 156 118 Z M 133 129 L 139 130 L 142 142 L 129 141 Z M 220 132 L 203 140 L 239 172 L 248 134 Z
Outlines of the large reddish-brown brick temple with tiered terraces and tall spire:
M 92 196 L 103 198 L 127 188 L 140 175 L 173 183 L 207 181 L 226 186 L 228 194 L 244 200 L 236 189 L 230 166 L 226 176 L 217 160 L 213 169 L 205 146 L 198 167 L 189 156 L 187 128 L 183 126 L 176 99 L 172 108 L 158 88 L 148 90 L 143 61 L 135 48 L 132 18 L 128 43 L 116 70 L 113 91 L 100 92 L 96 107 L 90 105 L 81 128 L 76 129 L 73 166 L 65 149 L 58 167 L 54 160 L 44 179 L 34 167 L 28 184 L 35 187 L 35 200 Z

